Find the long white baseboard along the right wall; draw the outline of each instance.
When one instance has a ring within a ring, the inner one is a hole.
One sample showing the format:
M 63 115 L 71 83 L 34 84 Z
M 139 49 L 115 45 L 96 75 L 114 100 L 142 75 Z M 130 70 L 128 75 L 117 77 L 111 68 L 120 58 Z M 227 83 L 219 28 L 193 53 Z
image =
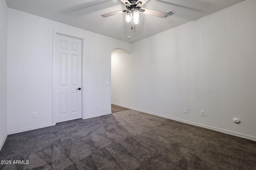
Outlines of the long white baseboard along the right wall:
M 120 104 L 115 104 L 115 103 L 111 103 L 111 104 L 114 104 L 114 105 L 120 106 L 120 107 L 125 107 L 127 109 L 132 109 L 132 110 L 148 113 L 150 115 L 164 117 L 166 119 L 171 119 L 171 120 L 179 121 L 179 122 L 182 122 L 182 123 L 187 123 L 187 124 L 190 124 L 190 125 L 194 125 L 194 126 L 198 126 L 198 127 L 203 127 L 203 128 L 210 129 L 210 130 L 213 130 L 213 131 L 218 131 L 218 132 L 221 132 L 221 133 L 226 133 L 228 135 L 233 135 L 233 136 L 236 136 L 236 137 L 241 137 L 241 138 L 244 138 L 244 139 L 249 139 L 249 140 L 252 140 L 252 141 L 256 141 L 256 137 L 253 137 L 253 136 L 244 135 L 244 134 L 241 134 L 241 133 L 236 133 L 236 132 L 233 132 L 233 131 L 228 131 L 228 130 L 225 130 L 225 129 L 220 129 L 220 128 L 212 127 L 212 126 L 208 126 L 208 125 L 203 125 L 203 124 L 200 124 L 200 123 L 194 123 L 194 122 L 191 122 L 191 121 L 177 119 L 177 118 L 174 118 L 174 117 L 160 115 L 160 114 L 157 114 L 157 113 L 152 113 L 152 112 L 149 112 L 149 111 L 140 110 L 140 109 L 136 109 L 136 108 L 120 105 Z

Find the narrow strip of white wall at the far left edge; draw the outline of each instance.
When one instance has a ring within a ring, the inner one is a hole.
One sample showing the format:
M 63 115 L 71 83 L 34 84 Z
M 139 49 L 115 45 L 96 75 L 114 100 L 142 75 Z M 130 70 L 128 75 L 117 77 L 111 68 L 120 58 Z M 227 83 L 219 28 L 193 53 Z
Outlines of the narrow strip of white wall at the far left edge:
M 0 0 L 0 150 L 7 133 L 7 5 Z

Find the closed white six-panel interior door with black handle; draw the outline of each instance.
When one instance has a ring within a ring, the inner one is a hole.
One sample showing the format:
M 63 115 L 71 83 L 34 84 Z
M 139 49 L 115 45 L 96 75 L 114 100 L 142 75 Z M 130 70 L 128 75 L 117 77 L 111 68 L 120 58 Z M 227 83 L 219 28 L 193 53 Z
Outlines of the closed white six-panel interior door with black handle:
M 82 118 L 82 40 L 56 35 L 56 123 Z

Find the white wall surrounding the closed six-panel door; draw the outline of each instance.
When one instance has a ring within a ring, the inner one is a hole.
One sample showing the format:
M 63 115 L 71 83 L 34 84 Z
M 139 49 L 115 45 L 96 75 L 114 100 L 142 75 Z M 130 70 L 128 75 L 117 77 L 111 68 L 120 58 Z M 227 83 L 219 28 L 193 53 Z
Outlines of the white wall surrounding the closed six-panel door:
M 111 112 L 111 50 L 131 44 L 8 9 L 8 132 L 52 125 L 53 29 L 84 38 L 83 116 Z M 100 104 L 100 108 L 96 108 Z M 37 111 L 38 117 L 32 118 Z

